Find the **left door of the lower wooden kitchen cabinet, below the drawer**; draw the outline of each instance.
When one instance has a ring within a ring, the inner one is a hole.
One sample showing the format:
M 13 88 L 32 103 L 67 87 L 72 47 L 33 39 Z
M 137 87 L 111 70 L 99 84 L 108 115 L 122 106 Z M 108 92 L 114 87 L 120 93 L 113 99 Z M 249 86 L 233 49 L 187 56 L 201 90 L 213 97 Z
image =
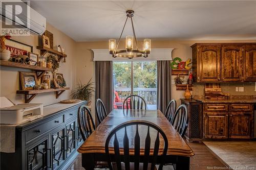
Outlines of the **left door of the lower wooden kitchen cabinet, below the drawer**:
M 228 113 L 205 112 L 204 113 L 204 137 L 228 138 Z

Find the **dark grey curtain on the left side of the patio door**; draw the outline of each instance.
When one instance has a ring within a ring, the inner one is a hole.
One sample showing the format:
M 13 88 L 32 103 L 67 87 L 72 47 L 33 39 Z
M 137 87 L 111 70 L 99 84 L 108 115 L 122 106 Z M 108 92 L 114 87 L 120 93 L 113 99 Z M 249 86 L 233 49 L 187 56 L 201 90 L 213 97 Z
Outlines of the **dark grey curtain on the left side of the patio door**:
M 95 61 L 95 99 L 102 100 L 107 113 L 110 113 L 113 109 L 112 63 L 112 61 Z M 98 125 L 97 118 L 96 124 Z

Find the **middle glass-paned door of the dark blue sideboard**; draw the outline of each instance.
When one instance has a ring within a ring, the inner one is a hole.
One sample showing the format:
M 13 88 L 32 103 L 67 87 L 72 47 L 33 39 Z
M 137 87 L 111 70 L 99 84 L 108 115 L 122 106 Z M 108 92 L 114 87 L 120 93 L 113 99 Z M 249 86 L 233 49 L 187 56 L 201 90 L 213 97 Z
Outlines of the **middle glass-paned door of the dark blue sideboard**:
M 65 128 L 52 135 L 52 163 L 56 169 L 65 159 Z

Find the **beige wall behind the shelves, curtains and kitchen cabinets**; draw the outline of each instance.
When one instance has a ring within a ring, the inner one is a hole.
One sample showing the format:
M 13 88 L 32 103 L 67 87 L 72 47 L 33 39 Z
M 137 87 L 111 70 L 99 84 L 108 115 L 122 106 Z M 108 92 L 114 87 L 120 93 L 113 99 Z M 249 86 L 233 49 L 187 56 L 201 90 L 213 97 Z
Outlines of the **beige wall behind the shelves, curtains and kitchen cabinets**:
M 82 83 L 87 83 L 91 78 L 95 81 L 94 76 L 94 62 L 93 62 L 93 48 L 108 48 L 108 41 L 101 42 L 75 42 L 73 39 L 63 34 L 53 26 L 47 24 L 47 30 L 54 35 L 54 45 L 60 44 L 65 48 L 65 52 L 68 55 L 66 63 L 61 62 L 58 72 L 63 73 L 67 86 L 73 89 L 74 85 L 81 81 Z M 36 50 L 38 45 L 38 36 L 29 37 L 12 37 L 12 39 L 33 45 L 34 52 L 39 54 Z M 173 58 L 180 57 L 182 60 L 187 60 L 191 58 L 191 48 L 196 42 L 255 42 L 254 41 L 185 41 L 185 40 L 152 40 L 152 48 L 174 48 Z M 120 46 L 124 46 L 121 42 Z M 139 46 L 142 46 L 139 42 Z M 19 77 L 18 71 L 29 71 L 26 69 L 16 69 L 1 67 L 1 96 L 7 96 L 14 103 L 23 103 L 24 95 L 16 94 L 16 90 L 19 89 Z M 175 76 L 172 77 L 174 80 Z M 187 77 L 186 77 L 187 78 Z M 254 83 L 222 83 L 223 92 L 228 92 L 230 94 L 255 94 Z M 236 86 L 244 86 L 245 92 L 235 92 Z M 44 105 L 49 105 L 52 103 L 59 102 L 63 99 L 70 98 L 71 90 L 67 90 L 63 93 L 59 99 L 55 99 L 55 93 L 45 93 L 38 94 L 34 99 L 33 103 L 43 103 Z M 179 99 L 183 98 L 184 91 L 176 90 L 176 86 L 172 85 L 172 96 L 173 99 L 180 103 Z M 193 91 L 194 94 L 203 95 L 204 84 L 198 83 Z M 92 101 L 95 101 L 93 98 Z M 92 108 L 94 108 L 94 103 L 92 103 Z M 94 115 L 94 109 L 92 111 Z

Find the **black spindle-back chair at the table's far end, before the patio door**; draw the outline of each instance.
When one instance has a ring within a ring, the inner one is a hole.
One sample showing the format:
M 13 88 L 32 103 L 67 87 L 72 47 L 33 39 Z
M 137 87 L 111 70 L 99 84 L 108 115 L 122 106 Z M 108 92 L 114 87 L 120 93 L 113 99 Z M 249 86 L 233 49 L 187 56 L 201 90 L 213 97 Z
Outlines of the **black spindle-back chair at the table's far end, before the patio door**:
M 129 95 L 123 101 L 123 109 L 141 109 L 141 110 L 146 110 L 146 102 L 139 95 Z

